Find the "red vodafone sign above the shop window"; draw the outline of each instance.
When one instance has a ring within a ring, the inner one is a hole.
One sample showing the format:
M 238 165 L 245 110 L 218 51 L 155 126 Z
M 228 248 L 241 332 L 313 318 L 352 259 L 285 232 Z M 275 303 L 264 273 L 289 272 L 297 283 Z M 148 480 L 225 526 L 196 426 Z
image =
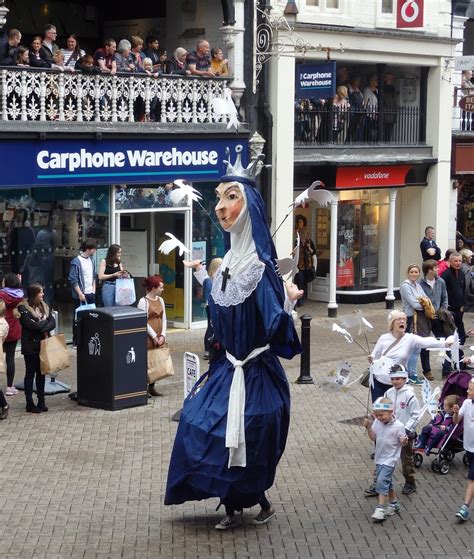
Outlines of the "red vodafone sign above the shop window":
M 336 188 L 388 188 L 405 186 L 410 165 L 338 167 Z

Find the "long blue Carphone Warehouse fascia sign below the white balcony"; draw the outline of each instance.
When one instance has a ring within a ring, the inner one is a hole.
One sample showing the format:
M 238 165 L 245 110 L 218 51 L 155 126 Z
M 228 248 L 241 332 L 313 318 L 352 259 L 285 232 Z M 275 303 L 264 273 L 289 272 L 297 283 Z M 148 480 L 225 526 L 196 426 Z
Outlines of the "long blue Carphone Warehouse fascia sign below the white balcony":
M 216 180 L 242 139 L 1 141 L 0 187 Z M 246 149 L 243 150 L 246 152 Z

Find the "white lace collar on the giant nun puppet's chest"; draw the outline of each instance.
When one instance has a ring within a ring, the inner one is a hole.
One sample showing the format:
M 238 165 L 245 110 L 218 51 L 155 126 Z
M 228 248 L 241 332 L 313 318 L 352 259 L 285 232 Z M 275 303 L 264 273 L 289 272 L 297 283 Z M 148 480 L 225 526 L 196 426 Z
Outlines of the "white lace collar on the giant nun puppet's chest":
M 232 307 L 240 305 L 257 288 L 262 279 L 265 264 L 260 260 L 252 262 L 248 268 L 227 280 L 225 291 L 222 291 L 222 266 L 217 271 L 213 281 L 211 295 L 216 305 Z

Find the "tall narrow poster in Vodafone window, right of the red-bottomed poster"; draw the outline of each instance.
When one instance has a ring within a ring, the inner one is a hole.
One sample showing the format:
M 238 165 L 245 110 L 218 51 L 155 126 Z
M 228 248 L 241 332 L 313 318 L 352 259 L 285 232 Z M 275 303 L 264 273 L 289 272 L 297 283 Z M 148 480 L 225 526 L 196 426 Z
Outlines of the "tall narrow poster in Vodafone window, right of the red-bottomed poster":
M 376 284 L 379 277 L 379 207 L 362 206 L 360 283 Z

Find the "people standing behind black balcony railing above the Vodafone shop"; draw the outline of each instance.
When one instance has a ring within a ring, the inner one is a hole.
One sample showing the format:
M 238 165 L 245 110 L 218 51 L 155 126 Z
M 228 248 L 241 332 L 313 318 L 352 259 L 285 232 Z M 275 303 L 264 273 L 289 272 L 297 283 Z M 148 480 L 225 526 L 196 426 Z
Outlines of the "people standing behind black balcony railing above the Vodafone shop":
M 393 139 L 397 119 L 395 75 L 384 74 L 383 141 Z M 345 66 L 338 68 L 336 94 L 324 99 L 298 99 L 296 102 L 295 135 L 297 141 L 354 143 L 376 141 L 379 120 L 378 76 L 366 77 L 365 86 L 358 73 L 349 74 Z

